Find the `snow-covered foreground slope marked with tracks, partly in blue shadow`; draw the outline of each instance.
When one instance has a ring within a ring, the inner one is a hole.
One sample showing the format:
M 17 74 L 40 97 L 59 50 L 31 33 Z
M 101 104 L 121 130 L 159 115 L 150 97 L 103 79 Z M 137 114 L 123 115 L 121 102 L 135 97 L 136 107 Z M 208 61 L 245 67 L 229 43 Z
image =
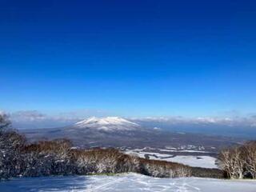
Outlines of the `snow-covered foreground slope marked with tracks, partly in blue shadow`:
M 0 182 L 1 192 L 25 191 L 173 191 L 255 192 L 256 181 L 212 178 L 152 178 L 141 174 L 14 178 Z

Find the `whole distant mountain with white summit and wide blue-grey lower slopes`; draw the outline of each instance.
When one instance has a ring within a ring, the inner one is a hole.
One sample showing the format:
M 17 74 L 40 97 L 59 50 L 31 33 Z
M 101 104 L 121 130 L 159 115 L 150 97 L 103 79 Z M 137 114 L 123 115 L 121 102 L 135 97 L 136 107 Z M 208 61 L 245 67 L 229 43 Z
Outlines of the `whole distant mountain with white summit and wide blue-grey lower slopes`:
M 204 146 L 206 151 L 214 151 L 223 146 L 242 142 L 240 138 L 206 136 L 203 134 L 184 134 L 158 130 L 139 122 L 125 118 L 86 118 L 71 126 L 49 129 L 22 130 L 30 142 L 43 139 L 68 138 L 74 146 L 79 147 L 131 147 L 142 149 L 154 147 L 165 149 L 166 146 L 180 147 L 186 145 Z

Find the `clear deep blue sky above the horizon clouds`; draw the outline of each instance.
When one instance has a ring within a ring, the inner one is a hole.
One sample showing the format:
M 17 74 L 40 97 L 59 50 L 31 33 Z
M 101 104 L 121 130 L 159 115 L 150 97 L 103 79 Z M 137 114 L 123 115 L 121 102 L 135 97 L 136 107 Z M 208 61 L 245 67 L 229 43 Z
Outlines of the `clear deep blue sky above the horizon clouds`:
M 255 112 L 255 1 L 0 2 L 0 108 Z

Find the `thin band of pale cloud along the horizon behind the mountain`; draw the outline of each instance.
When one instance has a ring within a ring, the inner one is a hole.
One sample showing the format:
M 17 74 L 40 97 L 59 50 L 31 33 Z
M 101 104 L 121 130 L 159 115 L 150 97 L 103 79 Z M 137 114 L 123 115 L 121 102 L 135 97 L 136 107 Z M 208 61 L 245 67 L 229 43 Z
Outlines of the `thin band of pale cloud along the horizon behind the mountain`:
M 3 112 L 2 112 L 3 113 Z M 11 113 L 6 113 L 10 117 L 14 126 L 22 128 L 30 128 L 34 126 L 40 127 L 54 127 L 54 126 L 68 126 L 74 122 L 81 121 L 85 118 L 92 116 L 103 118 L 109 116 L 118 116 L 116 114 L 110 114 L 102 110 L 77 110 L 70 112 L 63 112 L 58 114 L 45 114 L 38 110 L 19 110 Z M 216 126 L 246 126 L 256 127 L 256 115 L 236 115 L 236 116 L 223 116 L 223 117 L 198 117 L 190 118 L 183 116 L 169 116 L 169 117 L 142 117 L 131 118 L 123 117 L 135 122 L 162 122 L 166 125 L 216 125 Z

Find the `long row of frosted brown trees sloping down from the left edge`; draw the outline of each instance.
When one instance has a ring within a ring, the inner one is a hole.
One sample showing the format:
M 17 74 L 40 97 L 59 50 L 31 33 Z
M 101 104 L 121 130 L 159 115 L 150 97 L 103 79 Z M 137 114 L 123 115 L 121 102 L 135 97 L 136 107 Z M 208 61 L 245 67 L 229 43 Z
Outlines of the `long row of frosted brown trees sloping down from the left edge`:
M 138 158 L 115 149 L 74 149 L 66 139 L 26 144 L 14 131 L 0 132 L 0 178 L 124 172 L 159 178 L 223 177 L 221 170 Z

